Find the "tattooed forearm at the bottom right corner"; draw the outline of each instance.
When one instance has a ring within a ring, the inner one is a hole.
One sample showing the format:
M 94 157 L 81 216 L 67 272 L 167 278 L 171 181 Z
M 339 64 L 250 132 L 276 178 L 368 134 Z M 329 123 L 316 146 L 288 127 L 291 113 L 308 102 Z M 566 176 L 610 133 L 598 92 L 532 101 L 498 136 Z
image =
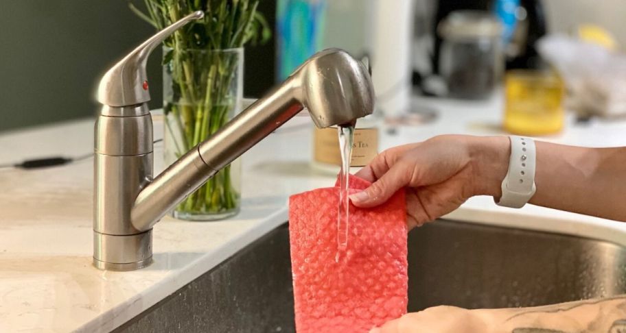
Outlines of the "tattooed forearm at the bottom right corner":
M 610 329 L 615 329 L 620 321 L 626 321 L 626 297 L 621 295 L 535 308 L 472 311 L 491 328 L 491 332 L 622 332 Z

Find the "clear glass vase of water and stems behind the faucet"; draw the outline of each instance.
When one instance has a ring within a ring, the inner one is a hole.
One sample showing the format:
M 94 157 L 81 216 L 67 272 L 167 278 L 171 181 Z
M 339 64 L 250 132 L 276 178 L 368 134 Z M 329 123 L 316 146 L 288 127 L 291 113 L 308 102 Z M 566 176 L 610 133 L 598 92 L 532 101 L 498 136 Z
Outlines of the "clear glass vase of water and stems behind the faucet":
M 165 162 L 171 164 L 240 112 L 243 49 L 163 48 Z M 241 164 L 237 159 L 179 204 L 176 219 L 214 221 L 240 210 Z

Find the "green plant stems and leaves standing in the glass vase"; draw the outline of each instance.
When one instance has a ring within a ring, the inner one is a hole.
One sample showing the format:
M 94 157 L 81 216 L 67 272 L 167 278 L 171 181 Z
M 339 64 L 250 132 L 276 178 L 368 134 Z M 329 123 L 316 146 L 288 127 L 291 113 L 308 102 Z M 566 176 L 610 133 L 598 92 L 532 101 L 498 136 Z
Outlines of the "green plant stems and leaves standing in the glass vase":
M 236 104 L 231 93 L 233 73 L 240 61 L 221 53 L 198 62 L 188 50 L 231 49 L 269 36 L 263 16 L 256 12 L 257 0 L 144 0 L 148 14 L 132 7 L 143 20 L 163 29 L 194 10 L 203 10 L 201 23 L 190 23 L 165 41 L 174 99 L 165 108 L 167 132 L 174 139 L 176 157 L 217 132 L 229 120 Z M 235 82 L 236 84 L 236 82 Z M 239 194 L 233 188 L 231 166 L 225 167 L 189 195 L 179 206 L 188 212 L 223 212 L 235 208 Z

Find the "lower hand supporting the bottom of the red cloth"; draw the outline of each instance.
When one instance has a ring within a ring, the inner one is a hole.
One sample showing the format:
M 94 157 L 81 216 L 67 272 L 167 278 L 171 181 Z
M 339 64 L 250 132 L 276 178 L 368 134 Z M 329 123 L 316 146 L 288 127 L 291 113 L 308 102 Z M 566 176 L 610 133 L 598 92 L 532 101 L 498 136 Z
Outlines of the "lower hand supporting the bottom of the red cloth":
M 488 332 L 485 320 L 475 310 L 454 306 L 435 306 L 424 311 L 404 314 L 388 321 L 370 333 L 474 333 Z

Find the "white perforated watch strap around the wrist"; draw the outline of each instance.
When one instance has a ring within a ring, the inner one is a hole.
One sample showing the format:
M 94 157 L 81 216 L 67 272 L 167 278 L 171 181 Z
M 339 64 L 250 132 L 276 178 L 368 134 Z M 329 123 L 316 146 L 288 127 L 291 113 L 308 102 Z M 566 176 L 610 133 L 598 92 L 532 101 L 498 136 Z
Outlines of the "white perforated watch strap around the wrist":
M 522 136 L 509 136 L 511 157 L 509 172 L 502 180 L 499 206 L 522 208 L 535 194 L 535 141 Z

